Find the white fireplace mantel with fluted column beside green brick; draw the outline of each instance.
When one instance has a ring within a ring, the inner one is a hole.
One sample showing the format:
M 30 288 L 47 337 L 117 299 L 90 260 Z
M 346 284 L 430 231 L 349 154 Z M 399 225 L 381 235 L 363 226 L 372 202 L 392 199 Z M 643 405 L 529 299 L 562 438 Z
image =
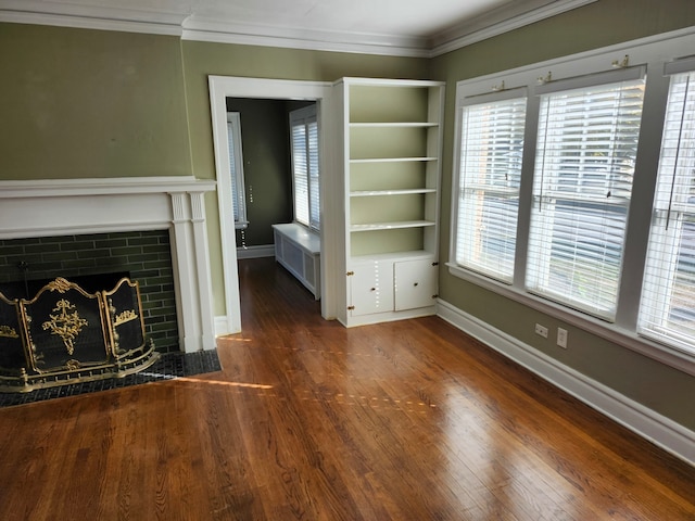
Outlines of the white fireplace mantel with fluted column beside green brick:
M 212 350 L 204 194 L 215 185 L 192 176 L 0 181 L 0 239 L 169 230 L 181 350 Z

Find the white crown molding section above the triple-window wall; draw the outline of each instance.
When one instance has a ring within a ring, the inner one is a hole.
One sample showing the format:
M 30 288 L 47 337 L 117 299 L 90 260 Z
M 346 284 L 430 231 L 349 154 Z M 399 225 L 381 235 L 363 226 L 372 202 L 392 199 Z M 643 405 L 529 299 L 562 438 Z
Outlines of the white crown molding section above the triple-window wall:
M 473 18 L 469 23 L 459 25 L 433 37 L 430 41 L 429 56 L 439 56 L 596 1 L 597 0 L 558 0 L 549 3 L 547 1 L 536 1 L 536 7 L 531 7 L 530 10 L 528 9 L 528 3 L 521 9 L 515 9 L 514 5 L 509 4 L 503 5 L 490 13 Z

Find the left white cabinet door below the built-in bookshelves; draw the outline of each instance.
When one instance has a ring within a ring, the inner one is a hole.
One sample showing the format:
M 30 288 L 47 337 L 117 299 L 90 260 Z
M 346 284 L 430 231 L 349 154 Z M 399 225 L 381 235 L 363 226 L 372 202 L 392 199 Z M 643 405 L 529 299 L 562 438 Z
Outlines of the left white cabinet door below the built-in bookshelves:
M 393 310 L 393 262 L 355 264 L 349 277 L 352 316 Z

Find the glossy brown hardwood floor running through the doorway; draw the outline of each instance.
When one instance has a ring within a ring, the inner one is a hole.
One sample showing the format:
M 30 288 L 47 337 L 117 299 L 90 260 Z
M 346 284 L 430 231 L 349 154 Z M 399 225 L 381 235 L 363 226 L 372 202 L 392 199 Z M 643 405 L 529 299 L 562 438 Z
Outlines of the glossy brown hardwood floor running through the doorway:
M 222 372 L 0 409 L 0 519 L 695 520 L 695 468 L 443 320 L 240 278 Z

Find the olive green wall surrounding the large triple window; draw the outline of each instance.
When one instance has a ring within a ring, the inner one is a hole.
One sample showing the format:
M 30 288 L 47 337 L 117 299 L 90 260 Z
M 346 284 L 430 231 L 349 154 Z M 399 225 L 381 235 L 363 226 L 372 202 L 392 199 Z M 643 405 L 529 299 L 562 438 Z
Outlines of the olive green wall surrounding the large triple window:
M 599 0 L 431 61 L 430 76 L 446 81 L 441 258 L 448 259 L 456 81 L 695 25 L 692 0 Z M 677 422 L 695 430 L 695 378 L 658 361 L 440 272 L 440 297 Z M 541 322 L 569 331 L 570 348 L 534 334 Z

